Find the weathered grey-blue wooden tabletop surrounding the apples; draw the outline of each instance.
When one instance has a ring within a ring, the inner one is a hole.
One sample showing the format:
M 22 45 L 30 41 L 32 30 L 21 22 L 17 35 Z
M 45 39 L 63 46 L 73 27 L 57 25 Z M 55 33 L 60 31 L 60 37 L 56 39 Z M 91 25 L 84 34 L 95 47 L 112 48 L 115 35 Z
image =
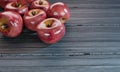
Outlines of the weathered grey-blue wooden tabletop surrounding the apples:
M 0 72 L 120 72 L 120 0 L 49 0 L 68 4 L 66 35 L 53 45 L 36 33 L 0 34 Z

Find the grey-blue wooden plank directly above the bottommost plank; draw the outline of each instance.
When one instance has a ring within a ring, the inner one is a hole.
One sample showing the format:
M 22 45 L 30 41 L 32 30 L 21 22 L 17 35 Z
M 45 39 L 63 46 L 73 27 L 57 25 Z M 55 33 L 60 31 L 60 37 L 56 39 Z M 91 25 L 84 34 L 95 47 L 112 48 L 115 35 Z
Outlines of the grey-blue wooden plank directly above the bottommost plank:
M 120 59 L 31 59 L 31 60 L 0 60 L 0 67 L 19 67 L 19 66 L 41 66 L 41 67 L 59 67 L 59 66 L 120 66 Z

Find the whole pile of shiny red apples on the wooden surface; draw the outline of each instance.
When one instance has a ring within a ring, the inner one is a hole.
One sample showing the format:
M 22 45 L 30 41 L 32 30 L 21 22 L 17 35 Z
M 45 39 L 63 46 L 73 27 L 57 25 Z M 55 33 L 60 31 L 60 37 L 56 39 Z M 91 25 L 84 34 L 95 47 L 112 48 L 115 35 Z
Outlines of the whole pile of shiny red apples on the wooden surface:
M 23 26 L 35 31 L 47 44 L 60 41 L 65 35 L 65 22 L 70 10 L 63 2 L 50 4 L 47 0 L 0 0 L 0 32 L 17 37 Z

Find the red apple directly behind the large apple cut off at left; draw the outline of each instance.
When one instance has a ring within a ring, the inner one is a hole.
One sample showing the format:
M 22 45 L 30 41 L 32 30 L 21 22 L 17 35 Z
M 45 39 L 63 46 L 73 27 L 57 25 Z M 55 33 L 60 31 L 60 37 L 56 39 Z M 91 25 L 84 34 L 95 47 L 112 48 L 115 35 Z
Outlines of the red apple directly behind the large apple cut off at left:
M 5 6 L 5 11 L 15 11 L 23 15 L 28 11 L 28 7 L 25 4 L 19 2 L 10 2 Z

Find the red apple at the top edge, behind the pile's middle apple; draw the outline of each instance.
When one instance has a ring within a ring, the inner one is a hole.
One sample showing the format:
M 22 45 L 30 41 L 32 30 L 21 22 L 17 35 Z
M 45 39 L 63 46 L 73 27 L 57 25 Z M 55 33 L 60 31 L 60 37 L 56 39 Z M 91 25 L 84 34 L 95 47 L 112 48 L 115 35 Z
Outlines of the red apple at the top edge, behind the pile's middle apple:
M 39 8 L 43 9 L 44 11 L 47 11 L 50 7 L 50 3 L 47 0 L 35 0 L 31 3 L 30 8 Z

